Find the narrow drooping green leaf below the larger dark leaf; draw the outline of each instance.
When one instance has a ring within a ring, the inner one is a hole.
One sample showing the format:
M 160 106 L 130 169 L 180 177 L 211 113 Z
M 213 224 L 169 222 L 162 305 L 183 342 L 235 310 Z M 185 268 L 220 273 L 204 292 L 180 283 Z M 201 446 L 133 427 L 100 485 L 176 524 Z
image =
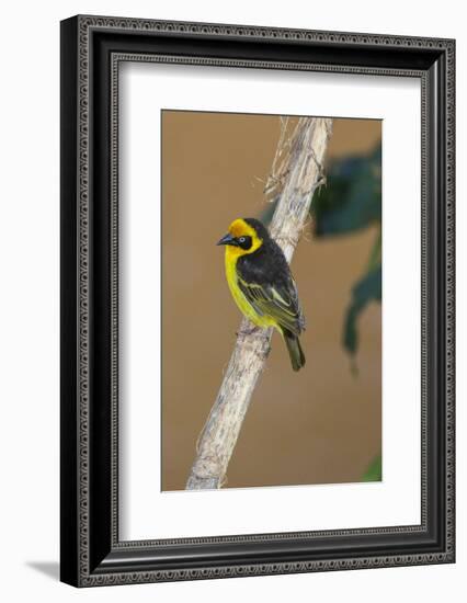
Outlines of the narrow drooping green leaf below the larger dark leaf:
M 346 311 L 343 332 L 344 348 L 351 354 L 355 354 L 358 346 L 357 318 L 369 302 L 373 300 L 381 300 L 380 264 L 365 274 L 352 289 L 352 300 Z

